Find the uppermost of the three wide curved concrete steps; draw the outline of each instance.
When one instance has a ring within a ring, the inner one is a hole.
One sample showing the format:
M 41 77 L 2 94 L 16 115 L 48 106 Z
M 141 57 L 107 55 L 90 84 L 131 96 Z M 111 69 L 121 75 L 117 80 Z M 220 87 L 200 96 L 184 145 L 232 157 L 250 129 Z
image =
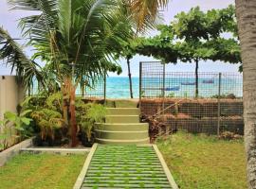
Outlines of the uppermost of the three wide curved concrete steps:
M 113 131 L 141 131 L 141 130 L 148 130 L 149 124 L 148 123 L 103 123 L 103 124 L 96 124 L 95 129 L 102 129 L 102 130 L 113 130 Z

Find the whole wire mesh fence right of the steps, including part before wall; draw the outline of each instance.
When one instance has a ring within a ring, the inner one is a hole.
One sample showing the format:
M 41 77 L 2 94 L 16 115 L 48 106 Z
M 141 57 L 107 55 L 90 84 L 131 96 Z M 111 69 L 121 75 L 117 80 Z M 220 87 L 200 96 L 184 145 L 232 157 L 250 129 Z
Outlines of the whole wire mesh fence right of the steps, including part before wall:
M 170 72 L 161 62 L 140 62 L 140 108 L 167 130 L 244 132 L 243 79 L 234 73 Z

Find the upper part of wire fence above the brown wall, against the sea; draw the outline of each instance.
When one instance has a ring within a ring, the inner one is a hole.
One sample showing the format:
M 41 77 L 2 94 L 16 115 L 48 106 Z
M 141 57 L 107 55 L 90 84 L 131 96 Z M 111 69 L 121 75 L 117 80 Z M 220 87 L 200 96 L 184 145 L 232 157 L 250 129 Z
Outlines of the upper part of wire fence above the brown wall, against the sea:
M 242 75 L 172 72 L 160 62 L 140 62 L 140 97 L 242 97 Z M 197 92 L 198 91 L 198 92 Z

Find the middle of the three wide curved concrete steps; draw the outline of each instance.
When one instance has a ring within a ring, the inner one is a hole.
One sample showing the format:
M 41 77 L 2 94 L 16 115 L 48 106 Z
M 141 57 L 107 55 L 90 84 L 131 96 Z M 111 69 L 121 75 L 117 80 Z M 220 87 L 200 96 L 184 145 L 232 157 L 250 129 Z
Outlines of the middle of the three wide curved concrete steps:
M 140 140 L 148 137 L 148 129 L 141 131 L 110 131 L 95 129 L 96 138 L 113 140 Z

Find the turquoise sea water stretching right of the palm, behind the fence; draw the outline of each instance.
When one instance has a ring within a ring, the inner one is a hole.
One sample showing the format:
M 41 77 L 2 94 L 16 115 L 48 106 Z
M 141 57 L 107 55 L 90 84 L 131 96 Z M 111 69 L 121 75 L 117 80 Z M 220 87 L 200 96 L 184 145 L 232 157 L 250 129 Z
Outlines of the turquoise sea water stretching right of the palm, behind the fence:
M 139 78 L 133 77 L 134 97 L 139 97 Z M 219 93 L 235 94 L 237 97 L 243 96 L 242 77 L 223 77 L 220 82 L 219 78 L 199 78 L 198 80 L 199 96 L 211 97 Z M 145 96 L 160 96 L 162 94 L 163 83 L 161 79 L 146 77 L 142 79 L 142 94 Z M 193 77 L 167 77 L 164 87 L 166 96 L 193 96 L 195 93 L 195 84 Z M 129 98 L 129 78 L 128 77 L 107 77 L 106 83 L 107 98 Z

